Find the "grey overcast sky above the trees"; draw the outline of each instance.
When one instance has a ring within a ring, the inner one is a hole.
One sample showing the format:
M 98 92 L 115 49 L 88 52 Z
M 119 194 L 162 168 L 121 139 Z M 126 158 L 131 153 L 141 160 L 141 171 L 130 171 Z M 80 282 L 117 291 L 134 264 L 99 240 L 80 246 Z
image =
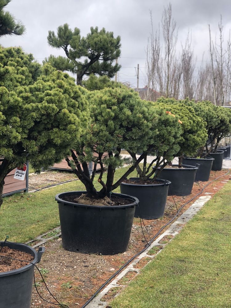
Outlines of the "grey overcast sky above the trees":
M 5 36 L 0 39 L 3 46 L 22 46 L 31 52 L 39 62 L 49 56 L 64 55 L 62 50 L 53 49 L 47 44 L 48 30 L 56 31 L 59 25 L 68 23 L 78 27 L 85 36 L 91 26 L 104 27 L 121 37 L 122 65 L 119 81 L 129 82 L 136 87 L 137 64 L 140 65 L 140 84 L 145 85 L 145 48 L 151 31 L 150 13 L 152 10 L 154 30 L 161 21 L 163 7 L 167 0 L 12 0 L 7 5 L 17 19 L 26 26 L 23 36 Z M 222 14 L 224 39 L 231 28 L 230 0 L 172 0 L 172 15 L 178 27 L 178 46 L 184 43 L 188 30 L 192 33 L 192 45 L 197 56 L 197 66 L 201 65 L 202 55 L 208 60 L 209 32 L 218 33 L 218 22 Z

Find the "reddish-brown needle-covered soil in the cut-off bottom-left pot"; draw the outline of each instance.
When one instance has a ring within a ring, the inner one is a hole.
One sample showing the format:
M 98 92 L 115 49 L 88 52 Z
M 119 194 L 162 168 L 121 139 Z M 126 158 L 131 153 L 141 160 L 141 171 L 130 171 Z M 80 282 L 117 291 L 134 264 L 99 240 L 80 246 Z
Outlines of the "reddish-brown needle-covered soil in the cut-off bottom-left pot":
M 21 267 L 29 264 L 29 262 L 21 262 L 5 257 L 10 257 L 18 260 L 26 260 L 26 261 L 34 260 L 34 257 L 30 253 L 26 253 L 16 249 L 11 249 L 8 246 L 4 246 L 0 251 L 0 273 L 8 272 L 10 270 L 18 270 Z

